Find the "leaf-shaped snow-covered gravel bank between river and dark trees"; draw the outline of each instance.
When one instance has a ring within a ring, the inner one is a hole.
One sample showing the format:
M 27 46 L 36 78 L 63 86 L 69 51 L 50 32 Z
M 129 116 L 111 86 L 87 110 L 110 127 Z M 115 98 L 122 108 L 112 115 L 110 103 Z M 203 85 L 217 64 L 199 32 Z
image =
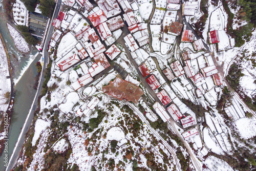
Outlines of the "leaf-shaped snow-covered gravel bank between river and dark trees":
M 12 39 L 14 41 L 15 47 L 21 51 L 21 52 L 29 52 L 29 44 L 25 41 L 23 36 L 11 25 L 7 23 L 8 30 L 12 36 Z

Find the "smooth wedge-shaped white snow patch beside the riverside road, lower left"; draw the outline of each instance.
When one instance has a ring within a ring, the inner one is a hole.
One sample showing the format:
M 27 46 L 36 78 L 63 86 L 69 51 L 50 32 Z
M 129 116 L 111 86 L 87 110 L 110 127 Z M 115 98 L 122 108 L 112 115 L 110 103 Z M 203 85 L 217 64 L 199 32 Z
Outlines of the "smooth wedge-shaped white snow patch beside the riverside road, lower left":
M 34 137 L 32 139 L 32 146 L 35 145 L 37 139 L 39 138 L 40 134 L 44 133 L 47 129 L 47 127 L 50 126 L 50 122 L 47 122 L 45 120 L 42 119 L 37 119 L 35 122 L 35 133 L 34 133 Z

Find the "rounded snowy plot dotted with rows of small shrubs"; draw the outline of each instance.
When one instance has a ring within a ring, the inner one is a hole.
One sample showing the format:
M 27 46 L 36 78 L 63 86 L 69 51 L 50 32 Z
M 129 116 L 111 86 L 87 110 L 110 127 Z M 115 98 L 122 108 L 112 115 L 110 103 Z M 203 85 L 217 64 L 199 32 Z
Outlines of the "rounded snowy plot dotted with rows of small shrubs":
M 16 0 L 13 4 L 13 19 L 17 25 L 26 25 L 27 21 L 27 8 L 20 0 Z

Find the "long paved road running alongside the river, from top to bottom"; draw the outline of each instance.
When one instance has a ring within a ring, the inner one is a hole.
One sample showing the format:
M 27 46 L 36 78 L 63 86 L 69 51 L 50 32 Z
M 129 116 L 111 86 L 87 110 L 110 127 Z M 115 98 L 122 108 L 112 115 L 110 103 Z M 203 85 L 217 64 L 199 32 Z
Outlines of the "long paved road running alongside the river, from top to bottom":
M 57 17 L 60 5 L 61 5 L 61 0 L 58 0 L 52 18 L 56 18 Z M 19 153 L 22 150 L 22 146 L 23 146 L 23 144 L 25 142 L 26 133 L 28 132 L 29 126 L 31 125 L 31 123 L 33 121 L 34 112 L 35 112 L 35 110 L 37 108 L 37 99 L 38 99 L 38 96 L 40 95 L 41 90 L 42 90 L 42 83 L 45 80 L 45 78 L 44 78 L 45 69 L 46 69 L 47 63 L 48 63 L 48 56 L 49 56 L 48 52 L 47 52 L 48 44 L 49 44 L 49 41 L 51 39 L 53 30 L 54 30 L 54 27 L 51 25 L 51 23 L 50 23 L 50 27 L 49 27 L 49 30 L 48 30 L 48 34 L 47 34 L 46 40 L 45 40 L 44 47 L 42 48 L 42 52 L 43 52 L 43 55 L 44 55 L 44 65 L 42 66 L 42 72 L 41 72 L 39 83 L 38 83 L 38 89 L 37 89 L 34 101 L 33 101 L 32 105 L 31 105 L 30 112 L 29 112 L 29 114 L 28 114 L 28 116 L 26 118 L 26 121 L 25 121 L 24 125 L 23 125 L 22 132 L 19 134 L 18 141 L 16 142 L 16 145 L 15 145 L 15 147 L 13 149 L 12 156 L 11 156 L 11 158 L 9 160 L 9 164 L 6 167 L 7 171 L 11 170 L 15 166 L 15 164 L 16 164 L 16 161 L 18 159 Z

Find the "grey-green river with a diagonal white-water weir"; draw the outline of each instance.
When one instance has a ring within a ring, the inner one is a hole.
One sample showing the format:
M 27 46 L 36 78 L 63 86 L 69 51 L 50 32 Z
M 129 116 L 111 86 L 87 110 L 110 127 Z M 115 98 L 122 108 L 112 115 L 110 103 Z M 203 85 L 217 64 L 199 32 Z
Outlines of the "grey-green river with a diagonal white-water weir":
M 23 73 L 24 70 L 28 68 L 24 75 L 19 79 L 16 86 L 14 87 L 16 95 L 13 105 L 13 115 L 11 123 L 9 125 L 8 133 L 8 158 L 10 159 L 13 148 L 18 139 L 19 133 L 22 130 L 23 124 L 29 113 L 32 101 L 36 93 L 36 90 L 33 89 L 35 77 L 37 75 L 35 63 L 40 59 L 41 55 L 38 54 L 38 51 L 34 48 L 31 49 L 31 52 L 29 54 L 22 54 L 17 51 L 12 40 L 12 37 L 8 32 L 8 28 L 6 26 L 6 19 L 3 15 L 2 6 L 0 7 L 0 32 L 5 40 L 10 60 L 15 70 L 15 72 L 13 73 L 14 80 L 20 76 L 20 73 Z M 28 66 L 28 63 L 29 61 L 31 61 L 31 58 L 35 59 L 31 63 L 31 65 Z M 0 157 L 0 171 L 5 170 L 4 155 L 5 153 L 3 153 Z

